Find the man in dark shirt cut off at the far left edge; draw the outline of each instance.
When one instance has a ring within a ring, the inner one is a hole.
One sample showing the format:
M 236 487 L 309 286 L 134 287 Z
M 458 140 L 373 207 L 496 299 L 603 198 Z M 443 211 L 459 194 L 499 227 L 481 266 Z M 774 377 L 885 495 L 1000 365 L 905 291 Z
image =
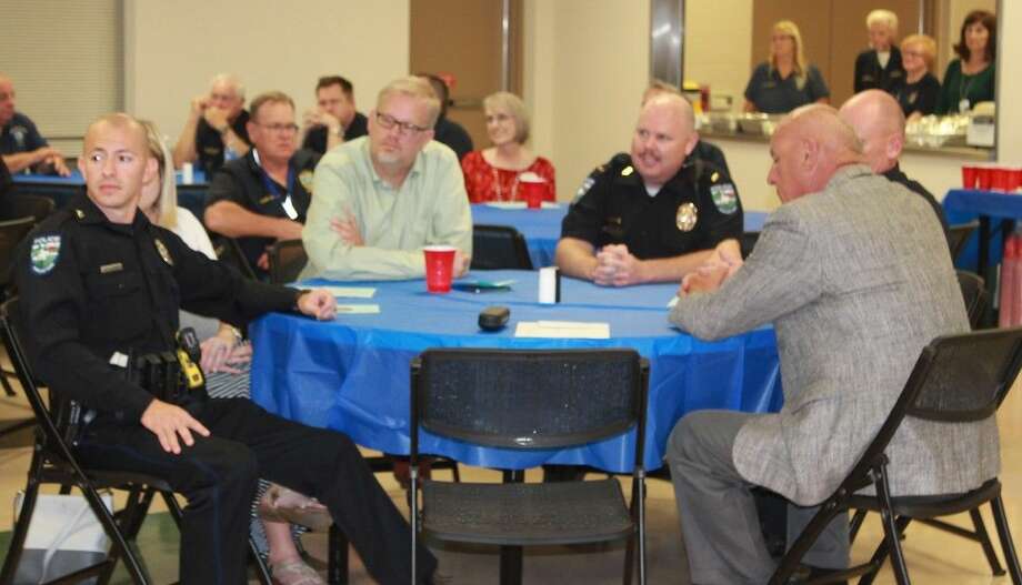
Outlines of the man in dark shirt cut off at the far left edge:
M 42 138 L 36 123 L 17 111 L 14 82 L 0 73 L 0 158 L 12 173 L 71 174 L 59 150 Z

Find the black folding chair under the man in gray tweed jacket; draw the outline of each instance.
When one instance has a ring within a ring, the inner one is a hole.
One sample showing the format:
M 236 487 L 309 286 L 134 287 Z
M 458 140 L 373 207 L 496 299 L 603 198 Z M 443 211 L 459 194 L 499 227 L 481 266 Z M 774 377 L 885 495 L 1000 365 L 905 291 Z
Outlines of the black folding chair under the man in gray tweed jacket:
M 989 503 L 1012 583 L 1022 585 L 1022 572 L 1001 501 L 1001 482 L 996 477 L 963 494 L 898 496 L 891 493 L 888 481 L 889 460 L 884 453 L 905 417 L 954 425 L 993 416 L 1014 383 L 1020 367 L 1022 327 L 942 336 L 923 349 L 901 396 L 873 442 L 833 495 L 821 504 L 820 512 L 784 555 L 770 584 L 786 583 L 826 525 L 838 514 L 859 508 L 881 514 L 884 539 L 868 563 L 830 575 L 824 583 L 853 576 L 862 576 L 860 584 L 872 583 L 890 555 L 898 583 L 905 585 L 909 583 L 909 571 L 900 541 L 910 522 L 930 521 L 963 512 L 969 512 L 973 521 L 976 521 L 979 507 Z M 940 448 L 940 445 L 934 445 L 934 448 Z M 875 490 L 875 495 L 860 494 L 870 486 Z M 989 538 L 983 543 L 983 548 L 988 558 L 995 559 Z

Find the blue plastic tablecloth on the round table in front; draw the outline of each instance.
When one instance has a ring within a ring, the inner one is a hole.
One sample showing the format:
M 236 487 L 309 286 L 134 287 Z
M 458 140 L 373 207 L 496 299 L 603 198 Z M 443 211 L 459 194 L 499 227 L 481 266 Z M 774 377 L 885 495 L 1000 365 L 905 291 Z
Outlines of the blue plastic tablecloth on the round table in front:
M 379 314 L 339 316 L 327 323 L 279 313 L 263 316 L 250 326 L 255 349 L 253 400 L 282 416 L 343 431 L 361 445 L 408 453 L 409 364 L 427 347 L 632 347 L 651 363 L 649 468 L 661 465 L 668 435 L 689 411 L 768 412 L 781 405 L 773 330 L 712 343 L 695 340 L 667 322 L 674 285 L 604 289 L 565 279 L 561 304 L 540 305 L 537 272 L 493 271 L 482 276 L 515 283 L 505 293 L 443 295 L 427 293 L 421 280 L 369 283 L 377 288 L 372 300 L 340 302 L 375 303 Z M 501 332 L 483 333 L 477 315 L 491 304 L 510 307 L 511 322 Z M 611 339 L 514 337 L 518 322 L 539 320 L 607 322 Z M 550 462 L 623 472 L 631 465 L 633 441 L 630 436 L 525 454 L 425 435 L 421 448 L 489 467 L 524 468 Z

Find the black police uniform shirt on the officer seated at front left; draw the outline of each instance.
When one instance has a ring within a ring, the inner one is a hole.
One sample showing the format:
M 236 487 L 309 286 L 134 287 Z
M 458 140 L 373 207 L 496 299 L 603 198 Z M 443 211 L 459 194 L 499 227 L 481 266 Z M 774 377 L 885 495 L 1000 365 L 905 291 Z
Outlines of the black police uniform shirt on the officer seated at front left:
M 16 253 L 22 340 L 37 375 L 100 416 L 138 423 L 152 396 L 116 353 L 173 349 L 178 310 L 243 325 L 294 306 L 292 289 L 243 279 L 142 213 L 114 224 L 86 195 L 44 220 Z

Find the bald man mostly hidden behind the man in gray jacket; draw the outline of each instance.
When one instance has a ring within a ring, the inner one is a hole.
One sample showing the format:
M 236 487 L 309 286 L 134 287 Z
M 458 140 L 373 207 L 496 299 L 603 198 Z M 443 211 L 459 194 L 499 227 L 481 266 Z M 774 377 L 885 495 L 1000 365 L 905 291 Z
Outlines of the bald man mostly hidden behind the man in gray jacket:
M 855 131 L 870 169 L 890 181 L 905 185 L 909 191 L 926 200 L 941 222 L 944 236 L 949 238 L 948 219 L 936 198 L 918 181 L 901 172 L 898 160 L 905 145 L 905 114 L 898 101 L 885 91 L 865 90 L 844 102 L 838 115 Z

